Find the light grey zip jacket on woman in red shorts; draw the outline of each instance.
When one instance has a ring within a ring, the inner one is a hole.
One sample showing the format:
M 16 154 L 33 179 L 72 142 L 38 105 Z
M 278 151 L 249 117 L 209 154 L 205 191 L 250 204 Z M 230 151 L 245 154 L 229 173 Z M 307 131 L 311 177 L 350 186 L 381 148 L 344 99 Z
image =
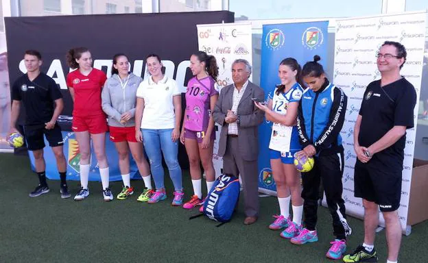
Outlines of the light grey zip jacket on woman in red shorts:
M 109 126 L 135 126 L 136 89 L 142 81 L 141 77 L 133 73 L 123 80 L 117 74 L 107 79 L 101 97 L 102 109 L 108 115 Z M 120 119 L 125 112 L 130 112 L 132 118 L 126 124 L 122 124 Z

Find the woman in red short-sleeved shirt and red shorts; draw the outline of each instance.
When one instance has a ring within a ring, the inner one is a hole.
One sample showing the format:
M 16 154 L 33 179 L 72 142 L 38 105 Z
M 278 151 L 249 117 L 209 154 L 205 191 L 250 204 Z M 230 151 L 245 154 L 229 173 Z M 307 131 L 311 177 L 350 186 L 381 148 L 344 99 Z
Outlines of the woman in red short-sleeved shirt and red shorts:
M 70 49 L 66 55 L 67 64 L 77 70 L 67 75 L 73 99 L 73 123 L 71 129 L 75 132 L 80 151 L 80 184 L 81 188 L 75 201 L 88 197 L 88 177 L 91 166 L 91 139 L 95 156 L 99 165 L 104 201 L 113 199 L 108 187 L 108 162 L 106 158 L 106 132 L 108 130 L 106 114 L 101 105 L 101 91 L 106 82 L 106 74 L 92 67 L 91 52 L 86 47 Z

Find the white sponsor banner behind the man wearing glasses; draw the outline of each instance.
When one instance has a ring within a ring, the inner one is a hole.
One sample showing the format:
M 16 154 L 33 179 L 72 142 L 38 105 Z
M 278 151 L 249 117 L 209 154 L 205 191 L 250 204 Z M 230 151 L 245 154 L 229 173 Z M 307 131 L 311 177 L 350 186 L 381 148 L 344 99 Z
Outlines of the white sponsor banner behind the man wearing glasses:
M 361 199 L 354 197 L 354 165 L 356 156 L 353 144 L 353 129 L 358 116 L 366 86 L 380 79 L 376 57 L 379 47 L 386 40 L 401 42 L 407 49 L 407 61 L 401 75 L 411 82 L 418 96 L 414 109 L 413 129 L 407 130 L 405 158 L 403 163 L 403 186 L 399 216 L 403 230 L 407 226 L 409 191 L 412 180 L 412 166 L 420 83 L 425 48 L 425 23 L 427 14 L 395 14 L 369 18 L 350 18 L 337 21 L 335 34 L 335 60 L 333 83 L 340 86 L 348 96 L 348 107 L 342 138 L 345 148 L 344 192 L 346 212 L 363 218 L 364 208 Z M 381 217 L 381 225 L 384 225 Z

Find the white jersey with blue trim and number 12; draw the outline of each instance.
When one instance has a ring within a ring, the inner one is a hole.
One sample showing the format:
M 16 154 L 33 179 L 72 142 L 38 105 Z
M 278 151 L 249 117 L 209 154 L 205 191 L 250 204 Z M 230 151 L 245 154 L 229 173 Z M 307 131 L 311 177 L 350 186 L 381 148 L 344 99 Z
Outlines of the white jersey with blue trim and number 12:
M 294 84 L 287 92 L 281 92 L 279 95 L 276 94 L 276 90 L 278 88 L 275 88 L 274 91 L 272 110 L 282 115 L 287 114 L 288 103 L 299 102 L 303 94 L 303 88 L 298 83 Z M 300 149 L 296 126 L 273 123 L 269 149 L 281 151 L 281 153 Z

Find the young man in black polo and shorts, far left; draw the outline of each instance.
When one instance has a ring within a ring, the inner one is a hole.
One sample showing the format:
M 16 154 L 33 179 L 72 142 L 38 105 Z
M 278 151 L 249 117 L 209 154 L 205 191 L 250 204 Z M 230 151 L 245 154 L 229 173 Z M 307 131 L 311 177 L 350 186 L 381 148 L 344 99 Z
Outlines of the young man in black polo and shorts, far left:
M 49 141 L 49 146 L 55 154 L 56 164 L 61 178 L 61 198 L 71 197 L 67 188 L 67 162 L 62 152 L 62 134 L 56 120 L 64 103 L 60 89 L 56 82 L 40 72 L 42 57 L 38 51 L 27 50 L 24 55 L 25 68 L 27 73 L 19 77 L 12 86 L 12 114 L 10 133 L 16 130 L 16 120 L 19 116 L 21 101 L 25 108 L 24 134 L 29 151 L 33 151 L 36 160 L 36 172 L 40 184 L 29 197 L 38 197 L 49 192 L 45 175 L 45 159 L 43 158 L 43 148 L 45 141 L 43 135 Z

